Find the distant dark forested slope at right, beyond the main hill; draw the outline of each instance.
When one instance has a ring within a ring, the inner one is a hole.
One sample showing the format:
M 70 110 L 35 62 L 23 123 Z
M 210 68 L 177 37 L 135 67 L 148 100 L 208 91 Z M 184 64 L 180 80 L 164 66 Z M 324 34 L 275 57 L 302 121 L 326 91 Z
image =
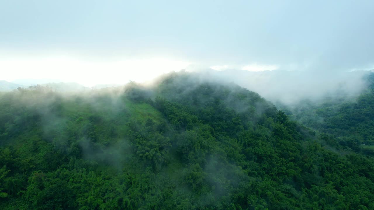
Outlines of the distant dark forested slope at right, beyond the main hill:
M 365 77 L 367 89 L 351 98 L 304 101 L 286 114 L 322 133 L 321 139 L 336 149 L 352 149 L 374 156 L 374 73 Z

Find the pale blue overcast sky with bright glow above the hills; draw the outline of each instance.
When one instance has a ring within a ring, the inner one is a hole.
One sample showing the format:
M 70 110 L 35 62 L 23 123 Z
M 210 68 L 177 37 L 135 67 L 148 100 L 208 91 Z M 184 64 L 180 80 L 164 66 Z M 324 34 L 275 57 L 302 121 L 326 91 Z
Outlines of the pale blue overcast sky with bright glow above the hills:
M 0 80 L 374 69 L 374 1 L 0 0 Z

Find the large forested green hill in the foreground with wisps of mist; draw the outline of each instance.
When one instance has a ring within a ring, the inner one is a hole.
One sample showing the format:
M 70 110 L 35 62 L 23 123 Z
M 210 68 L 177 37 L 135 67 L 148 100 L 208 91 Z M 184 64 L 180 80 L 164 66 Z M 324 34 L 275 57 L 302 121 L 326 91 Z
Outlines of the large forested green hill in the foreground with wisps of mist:
M 0 209 L 374 209 L 373 158 L 254 92 L 180 73 L 90 94 L 0 96 Z

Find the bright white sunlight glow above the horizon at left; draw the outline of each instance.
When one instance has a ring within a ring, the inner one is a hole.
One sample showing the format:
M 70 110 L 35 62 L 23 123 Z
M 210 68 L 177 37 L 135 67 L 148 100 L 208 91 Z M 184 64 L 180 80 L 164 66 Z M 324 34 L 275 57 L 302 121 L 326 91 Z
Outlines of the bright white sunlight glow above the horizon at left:
M 123 84 L 129 80 L 144 82 L 170 71 L 179 71 L 189 64 L 165 58 L 117 61 L 84 61 L 67 56 L 0 59 L 0 80 L 58 79 L 91 87 Z

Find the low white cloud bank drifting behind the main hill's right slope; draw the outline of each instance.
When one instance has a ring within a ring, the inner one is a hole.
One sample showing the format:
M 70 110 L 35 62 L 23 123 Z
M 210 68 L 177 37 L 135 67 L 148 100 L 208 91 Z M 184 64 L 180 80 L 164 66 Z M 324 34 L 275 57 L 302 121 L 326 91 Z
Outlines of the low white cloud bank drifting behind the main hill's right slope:
M 191 68 L 210 80 L 237 83 L 257 92 L 273 103 L 295 105 L 303 100 L 314 102 L 329 98 L 357 96 L 367 87 L 365 77 L 371 71 L 314 72 L 314 71 L 245 71 L 208 70 Z

